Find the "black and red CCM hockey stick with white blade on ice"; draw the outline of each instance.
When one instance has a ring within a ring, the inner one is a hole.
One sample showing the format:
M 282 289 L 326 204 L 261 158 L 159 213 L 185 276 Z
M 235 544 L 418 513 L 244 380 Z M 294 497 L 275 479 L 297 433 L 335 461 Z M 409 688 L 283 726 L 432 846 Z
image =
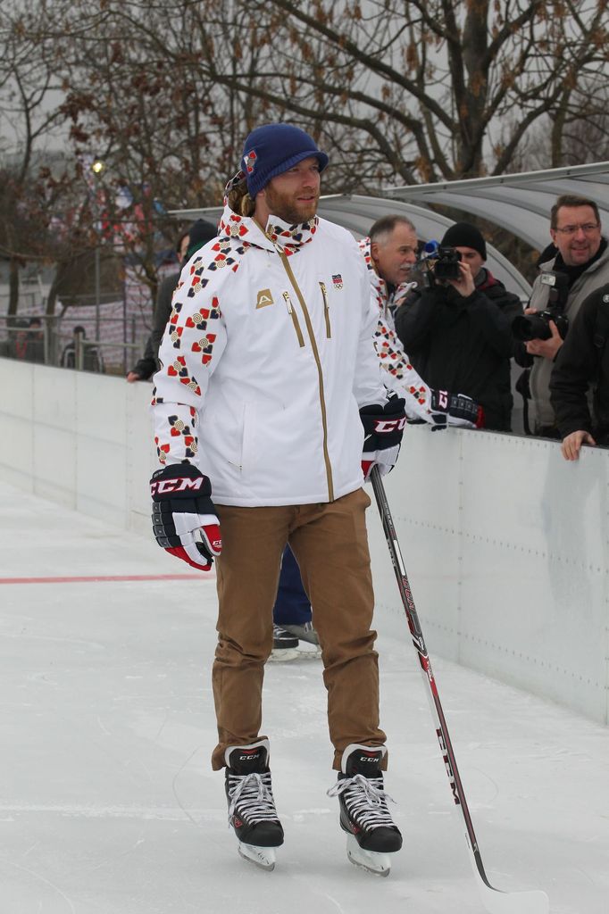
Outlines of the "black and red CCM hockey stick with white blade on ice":
M 486 877 L 485 868 L 482 864 L 482 856 L 480 855 L 480 848 L 478 847 L 478 842 L 475 837 L 474 825 L 472 824 L 472 818 L 469 813 L 467 801 L 465 800 L 463 784 L 454 758 L 453 744 L 448 734 L 448 727 L 446 726 L 442 705 L 440 704 L 440 696 L 438 695 L 438 688 L 433 676 L 432 664 L 422 636 L 419 616 L 417 615 L 414 606 L 414 600 L 412 600 L 411 585 L 408 582 L 404 560 L 401 557 L 400 544 L 395 532 L 395 526 L 393 526 L 393 518 L 391 517 L 387 494 L 385 494 L 385 487 L 382 483 L 378 466 L 372 467 L 370 480 L 377 500 L 385 537 L 387 538 L 387 545 L 389 546 L 393 570 L 395 571 L 395 576 L 398 581 L 401 601 L 404 605 L 404 610 L 406 611 L 408 627 L 411 630 L 412 643 L 419 656 L 422 677 L 427 685 L 425 691 L 429 698 L 430 707 L 432 708 L 432 714 L 436 724 L 435 732 L 440 743 L 440 750 L 443 755 L 446 773 L 448 774 L 448 781 L 451 785 L 454 803 L 460 808 L 463 815 L 470 863 L 474 870 L 475 881 L 482 898 L 482 903 L 490 914 L 548 914 L 548 911 L 550 910 L 550 901 L 545 892 L 540 890 L 529 892 L 502 892 L 491 886 Z

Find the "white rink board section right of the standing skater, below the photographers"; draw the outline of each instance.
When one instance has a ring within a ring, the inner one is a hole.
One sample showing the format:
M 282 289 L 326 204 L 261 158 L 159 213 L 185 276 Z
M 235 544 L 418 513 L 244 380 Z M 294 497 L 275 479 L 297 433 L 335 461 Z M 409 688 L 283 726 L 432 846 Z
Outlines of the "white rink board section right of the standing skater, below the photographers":
M 386 486 L 431 654 L 608 722 L 608 467 L 607 451 L 568 463 L 552 441 L 408 430 Z M 380 606 L 395 586 L 375 574 Z

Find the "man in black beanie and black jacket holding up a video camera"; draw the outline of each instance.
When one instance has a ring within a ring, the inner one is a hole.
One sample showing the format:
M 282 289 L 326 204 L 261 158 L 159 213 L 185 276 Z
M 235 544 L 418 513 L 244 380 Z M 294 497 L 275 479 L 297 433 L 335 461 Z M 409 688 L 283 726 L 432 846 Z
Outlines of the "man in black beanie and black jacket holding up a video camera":
M 459 390 L 484 409 L 486 429 L 511 429 L 511 323 L 522 314 L 517 295 L 486 270 L 486 243 L 468 222 L 445 232 L 442 247 L 461 256 L 459 278 L 413 292 L 395 314 L 412 365 L 431 388 Z

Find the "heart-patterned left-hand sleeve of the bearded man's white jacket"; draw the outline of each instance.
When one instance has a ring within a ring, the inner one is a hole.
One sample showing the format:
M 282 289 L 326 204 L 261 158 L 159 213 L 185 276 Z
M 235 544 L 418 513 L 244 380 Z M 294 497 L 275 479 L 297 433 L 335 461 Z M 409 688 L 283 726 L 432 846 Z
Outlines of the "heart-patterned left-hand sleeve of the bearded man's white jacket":
M 204 271 L 198 259 L 182 271 L 159 349 L 152 412 L 163 464 L 197 462 L 198 416 L 227 342 L 220 283 L 203 278 Z

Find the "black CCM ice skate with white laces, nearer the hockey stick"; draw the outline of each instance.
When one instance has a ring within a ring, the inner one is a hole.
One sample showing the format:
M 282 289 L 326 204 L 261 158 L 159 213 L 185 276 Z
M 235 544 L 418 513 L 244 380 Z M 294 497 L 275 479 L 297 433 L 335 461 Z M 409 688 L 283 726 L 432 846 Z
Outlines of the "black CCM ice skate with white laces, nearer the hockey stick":
M 385 746 L 352 743 L 343 752 L 342 771 L 327 792 L 340 801 L 340 827 L 347 832 L 347 857 L 376 876 L 389 876 L 390 854 L 401 848 L 401 834 L 387 807 L 380 763 Z

